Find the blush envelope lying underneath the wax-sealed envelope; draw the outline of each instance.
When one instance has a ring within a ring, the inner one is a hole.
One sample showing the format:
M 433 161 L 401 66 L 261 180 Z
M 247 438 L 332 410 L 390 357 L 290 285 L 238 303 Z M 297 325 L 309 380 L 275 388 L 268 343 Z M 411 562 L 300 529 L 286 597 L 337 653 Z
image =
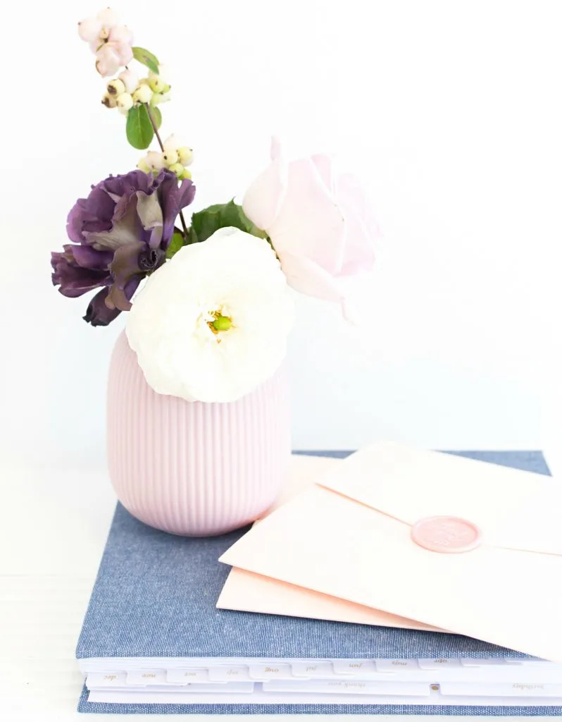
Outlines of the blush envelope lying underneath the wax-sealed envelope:
M 267 513 L 271 513 L 302 490 L 312 487 L 315 480 L 325 477 L 340 464 L 341 461 L 335 458 L 293 456 L 289 483 Z M 380 612 L 368 606 L 337 599 L 328 594 L 294 586 L 237 567 L 233 567 L 230 571 L 216 606 L 219 609 L 237 609 L 242 612 L 284 614 L 290 617 L 332 619 L 335 622 L 354 622 L 381 627 L 442 631 L 422 622 Z

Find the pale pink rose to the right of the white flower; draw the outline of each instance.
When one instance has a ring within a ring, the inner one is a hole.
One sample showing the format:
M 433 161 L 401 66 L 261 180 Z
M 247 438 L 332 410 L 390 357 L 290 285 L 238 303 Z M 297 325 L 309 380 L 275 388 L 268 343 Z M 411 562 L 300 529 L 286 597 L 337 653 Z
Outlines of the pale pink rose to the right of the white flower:
M 242 206 L 271 238 L 289 284 L 342 303 L 346 314 L 346 281 L 372 271 L 379 236 L 354 178 L 338 175 L 327 155 L 286 162 L 273 139 L 271 164 L 248 188 Z

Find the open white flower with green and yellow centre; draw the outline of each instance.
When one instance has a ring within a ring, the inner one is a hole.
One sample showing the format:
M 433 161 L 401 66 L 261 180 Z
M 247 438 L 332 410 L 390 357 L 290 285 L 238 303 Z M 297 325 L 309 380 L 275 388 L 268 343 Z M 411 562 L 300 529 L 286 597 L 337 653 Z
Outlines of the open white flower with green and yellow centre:
M 157 393 L 234 401 L 281 365 L 292 320 L 291 292 L 271 246 L 221 228 L 147 279 L 126 333 Z

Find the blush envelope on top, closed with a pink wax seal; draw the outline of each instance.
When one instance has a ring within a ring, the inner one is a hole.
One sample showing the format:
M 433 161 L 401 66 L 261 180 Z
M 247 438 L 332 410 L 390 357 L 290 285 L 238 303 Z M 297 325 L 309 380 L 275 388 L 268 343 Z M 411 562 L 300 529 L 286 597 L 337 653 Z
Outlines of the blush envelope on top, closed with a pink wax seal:
M 380 443 L 342 461 L 221 561 L 354 604 L 562 661 L 562 485 L 444 453 Z M 473 523 L 482 543 L 416 544 L 425 518 Z

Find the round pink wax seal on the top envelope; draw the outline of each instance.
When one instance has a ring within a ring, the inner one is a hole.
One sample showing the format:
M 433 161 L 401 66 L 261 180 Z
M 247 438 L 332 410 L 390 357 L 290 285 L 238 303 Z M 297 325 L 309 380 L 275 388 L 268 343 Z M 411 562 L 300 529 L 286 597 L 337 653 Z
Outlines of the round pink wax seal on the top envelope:
M 458 516 L 428 516 L 413 525 L 412 539 L 430 552 L 460 554 L 480 547 L 482 534 L 478 526 Z

